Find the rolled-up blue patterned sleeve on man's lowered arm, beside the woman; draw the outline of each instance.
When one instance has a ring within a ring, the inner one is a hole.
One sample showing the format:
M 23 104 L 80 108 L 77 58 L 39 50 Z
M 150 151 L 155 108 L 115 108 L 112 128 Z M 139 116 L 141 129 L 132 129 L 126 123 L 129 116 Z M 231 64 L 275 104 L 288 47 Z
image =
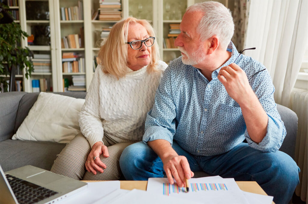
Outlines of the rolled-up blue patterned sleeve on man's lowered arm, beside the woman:
M 172 144 L 176 131 L 176 105 L 172 99 L 171 70 L 168 67 L 155 94 L 153 108 L 145 121 L 143 142 L 163 139 Z

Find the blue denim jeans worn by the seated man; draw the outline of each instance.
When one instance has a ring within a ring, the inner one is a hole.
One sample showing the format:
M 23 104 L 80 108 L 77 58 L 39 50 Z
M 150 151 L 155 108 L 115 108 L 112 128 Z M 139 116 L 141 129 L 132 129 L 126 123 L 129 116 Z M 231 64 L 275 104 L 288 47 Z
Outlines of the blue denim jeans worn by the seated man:
M 299 183 L 299 168 L 295 161 L 281 151 L 263 153 L 247 143 L 241 143 L 229 152 L 215 156 L 195 156 L 182 149 L 175 141 L 172 148 L 185 156 L 193 172 L 204 171 L 209 175 L 236 181 L 256 181 L 262 189 L 274 196 L 275 203 L 288 203 Z M 120 167 L 127 180 L 148 180 L 164 177 L 163 162 L 143 142 L 126 147 L 120 157 Z

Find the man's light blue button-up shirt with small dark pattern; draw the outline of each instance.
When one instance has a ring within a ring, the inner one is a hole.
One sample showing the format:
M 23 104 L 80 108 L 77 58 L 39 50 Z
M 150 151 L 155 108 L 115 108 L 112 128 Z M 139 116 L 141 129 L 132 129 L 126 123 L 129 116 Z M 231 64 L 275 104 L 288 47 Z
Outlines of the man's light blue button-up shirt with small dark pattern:
M 227 50 L 232 55 L 221 67 L 233 63 L 239 55 L 232 42 Z M 217 79 L 221 67 L 213 71 L 209 81 L 199 69 L 183 64 L 181 57 L 170 63 L 156 90 L 154 106 L 145 122 L 144 143 L 164 139 L 172 144 L 175 140 L 193 155 L 210 156 L 225 153 L 246 138 L 254 149 L 277 151 L 286 129 L 274 101 L 275 88 L 270 74 L 265 70 L 254 75 L 265 67 L 245 55 L 236 63 L 245 71 L 268 116 L 267 133 L 260 143 L 250 139 L 239 104 Z

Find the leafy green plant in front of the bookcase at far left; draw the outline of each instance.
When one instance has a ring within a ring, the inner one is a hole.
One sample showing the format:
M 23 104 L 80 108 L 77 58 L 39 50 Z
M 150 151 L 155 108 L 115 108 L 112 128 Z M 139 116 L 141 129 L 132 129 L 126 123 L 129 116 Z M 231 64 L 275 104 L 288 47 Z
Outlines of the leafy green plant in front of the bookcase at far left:
M 1 5 L 7 9 L 5 5 Z M 8 11 L 10 14 L 10 12 Z M 3 14 L 0 14 L 0 21 L 3 18 Z M 19 69 L 22 71 L 25 68 L 25 75 L 31 77 L 33 71 L 33 63 L 28 58 L 31 51 L 28 47 L 22 48 L 20 45 L 21 38 L 28 37 L 28 34 L 22 31 L 20 25 L 15 22 L 0 24 L 0 75 L 10 75 L 9 69 L 5 67 L 12 67 L 13 64 L 19 65 Z M 4 91 L 7 91 L 8 84 L 3 77 L 0 77 L 0 83 L 4 84 Z M 1 90 L 1 88 L 0 88 Z M 2 90 L 1 90 L 2 92 Z

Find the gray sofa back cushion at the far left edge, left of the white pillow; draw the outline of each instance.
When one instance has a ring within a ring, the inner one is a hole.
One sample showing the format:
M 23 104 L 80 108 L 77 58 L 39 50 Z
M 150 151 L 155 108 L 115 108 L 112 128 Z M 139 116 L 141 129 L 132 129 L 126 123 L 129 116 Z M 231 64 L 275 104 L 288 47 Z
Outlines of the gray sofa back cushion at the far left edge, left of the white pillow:
M 0 141 L 12 138 L 19 101 L 26 92 L 0 94 Z

